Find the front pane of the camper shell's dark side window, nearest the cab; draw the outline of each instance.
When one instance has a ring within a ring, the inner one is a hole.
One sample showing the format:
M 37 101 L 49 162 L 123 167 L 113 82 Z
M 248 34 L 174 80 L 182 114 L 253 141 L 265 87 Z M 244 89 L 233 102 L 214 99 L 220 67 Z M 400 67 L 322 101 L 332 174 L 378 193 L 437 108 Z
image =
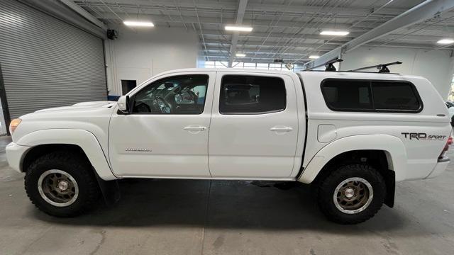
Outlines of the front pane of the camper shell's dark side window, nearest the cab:
M 323 82 L 323 96 L 336 110 L 372 110 L 367 81 L 328 80 Z

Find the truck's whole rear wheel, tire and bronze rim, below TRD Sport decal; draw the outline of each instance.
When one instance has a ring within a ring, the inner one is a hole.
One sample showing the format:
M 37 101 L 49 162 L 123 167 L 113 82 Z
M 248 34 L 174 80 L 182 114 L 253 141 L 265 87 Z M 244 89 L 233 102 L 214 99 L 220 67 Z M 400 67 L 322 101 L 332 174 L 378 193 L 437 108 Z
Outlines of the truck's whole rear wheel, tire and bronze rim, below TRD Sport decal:
M 372 166 L 341 166 L 321 180 L 317 192 L 319 208 L 328 220 L 357 224 L 374 216 L 386 197 L 382 175 Z

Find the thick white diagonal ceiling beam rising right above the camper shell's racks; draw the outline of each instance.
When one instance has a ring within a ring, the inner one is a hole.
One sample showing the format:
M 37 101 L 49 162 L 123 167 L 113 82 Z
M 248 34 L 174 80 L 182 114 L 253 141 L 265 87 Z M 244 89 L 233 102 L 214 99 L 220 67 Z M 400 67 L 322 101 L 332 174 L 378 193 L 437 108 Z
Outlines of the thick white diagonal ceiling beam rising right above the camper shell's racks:
M 399 16 L 392 18 L 390 21 L 383 23 L 377 28 L 374 28 L 369 32 L 358 36 L 357 38 L 350 40 L 350 42 L 345 43 L 344 45 L 332 50 L 331 52 L 327 52 L 326 54 L 319 57 L 319 59 L 306 63 L 305 67 L 312 67 L 317 64 L 323 64 L 324 62 L 333 60 L 333 58 L 340 56 L 344 52 L 348 52 L 355 49 L 356 47 L 365 45 L 367 42 L 372 42 L 373 40 L 382 38 L 383 36 L 389 35 L 393 31 L 399 30 L 400 28 L 405 28 L 415 23 L 426 21 L 435 16 L 439 16 L 444 11 L 449 11 L 452 8 L 454 8 L 453 0 L 424 1 L 423 3 L 409 9 L 408 11 L 405 11 Z

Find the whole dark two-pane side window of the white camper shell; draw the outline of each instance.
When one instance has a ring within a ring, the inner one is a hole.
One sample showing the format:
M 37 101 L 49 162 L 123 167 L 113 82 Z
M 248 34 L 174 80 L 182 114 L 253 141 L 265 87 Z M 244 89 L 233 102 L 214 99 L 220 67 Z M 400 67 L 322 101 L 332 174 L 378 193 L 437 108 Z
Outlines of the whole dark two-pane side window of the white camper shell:
M 326 79 L 321 89 L 333 111 L 387 111 L 419 113 L 421 98 L 408 81 Z

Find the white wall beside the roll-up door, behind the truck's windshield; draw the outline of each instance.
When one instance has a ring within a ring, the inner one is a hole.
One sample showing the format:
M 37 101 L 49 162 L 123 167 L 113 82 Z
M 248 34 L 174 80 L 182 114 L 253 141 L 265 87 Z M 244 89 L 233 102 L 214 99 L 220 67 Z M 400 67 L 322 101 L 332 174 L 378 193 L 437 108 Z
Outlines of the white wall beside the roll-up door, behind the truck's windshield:
M 146 79 L 172 69 L 196 67 L 199 38 L 184 28 L 128 28 L 118 39 L 105 40 L 107 87 L 110 96 L 121 96 L 121 80 Z

